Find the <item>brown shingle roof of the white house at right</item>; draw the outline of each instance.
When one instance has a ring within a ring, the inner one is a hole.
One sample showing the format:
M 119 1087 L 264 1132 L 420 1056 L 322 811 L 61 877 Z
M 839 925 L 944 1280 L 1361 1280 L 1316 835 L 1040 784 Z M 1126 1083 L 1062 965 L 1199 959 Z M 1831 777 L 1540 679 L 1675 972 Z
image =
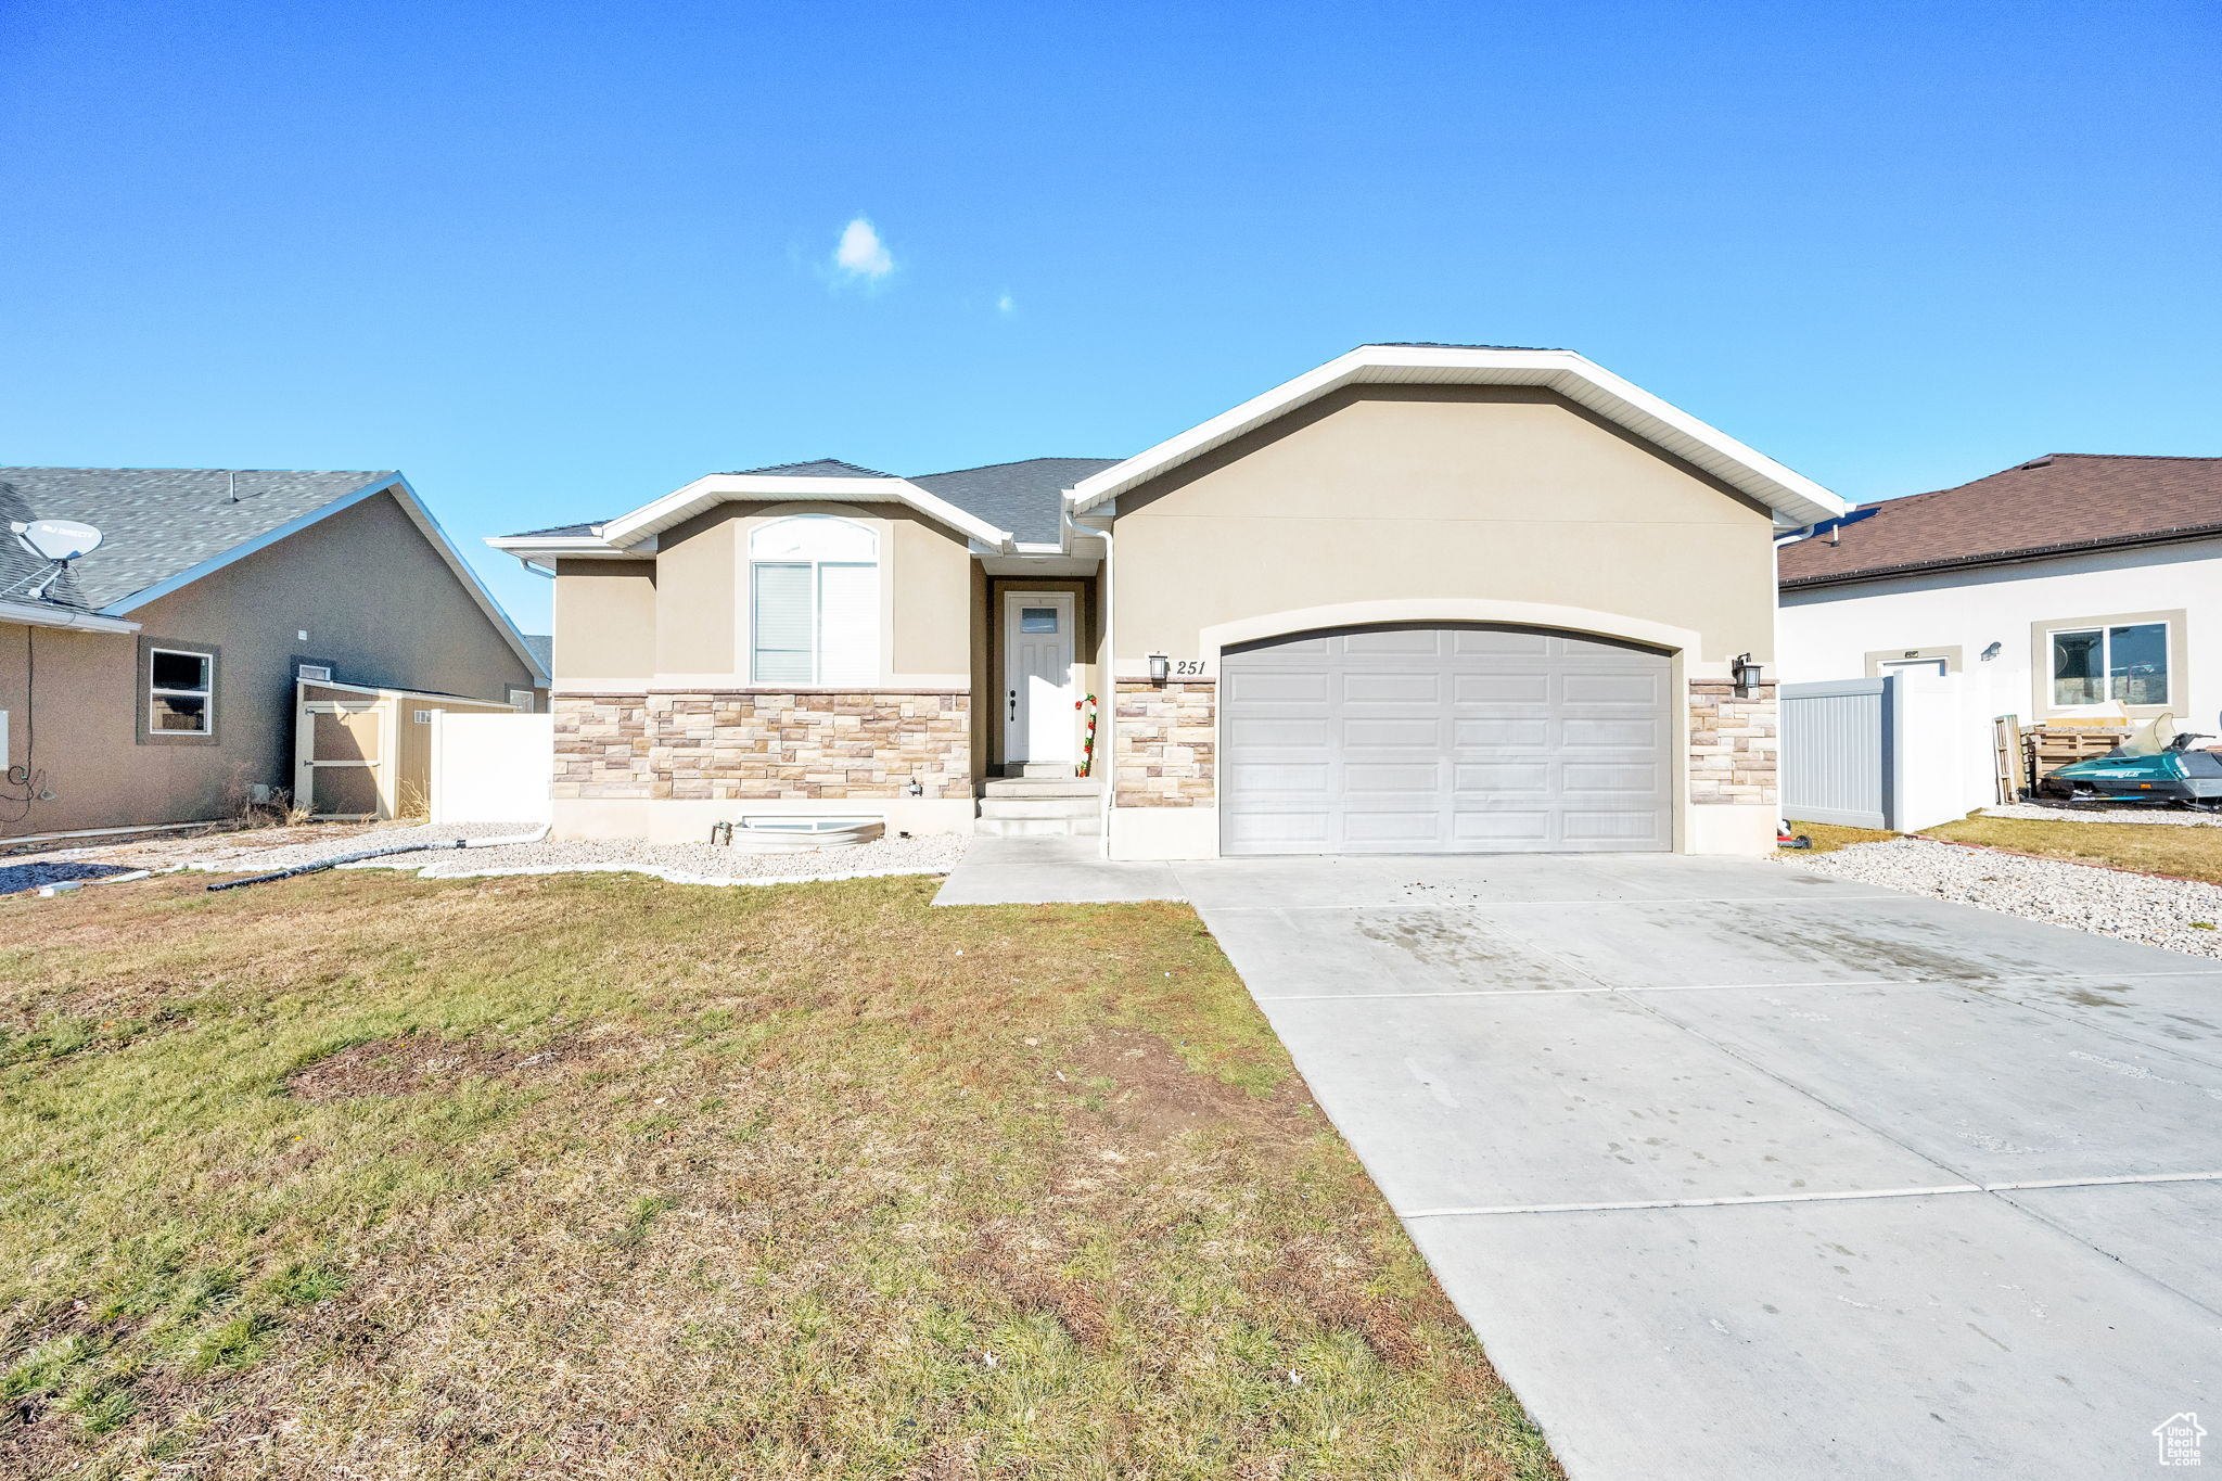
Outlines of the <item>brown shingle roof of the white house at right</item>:
M 2046 453 L 1958 488 L 1860 504 L 1780 551 L 1782 586 L 2222 533 L 2222 457 Z

